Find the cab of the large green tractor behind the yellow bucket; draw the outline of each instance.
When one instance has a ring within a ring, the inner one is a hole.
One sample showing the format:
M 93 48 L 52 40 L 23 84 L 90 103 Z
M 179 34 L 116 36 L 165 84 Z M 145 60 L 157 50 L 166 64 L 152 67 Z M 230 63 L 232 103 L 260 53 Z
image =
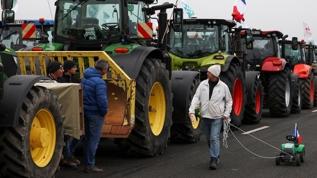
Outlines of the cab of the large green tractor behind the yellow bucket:
M 110 44 L 152 40 L 149 17 L 155 10 L 149 8 L 151 3 L 149 0 L 59 0 L 54 42 L 62 44 L 64 50 L 105 50 Z

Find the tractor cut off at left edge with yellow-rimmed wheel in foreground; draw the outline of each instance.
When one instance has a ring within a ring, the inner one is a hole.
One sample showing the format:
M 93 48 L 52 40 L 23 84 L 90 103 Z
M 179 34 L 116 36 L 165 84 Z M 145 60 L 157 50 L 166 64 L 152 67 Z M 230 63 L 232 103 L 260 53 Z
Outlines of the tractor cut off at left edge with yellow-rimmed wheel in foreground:
M 1 1 L 5 23 L 12 23 L 13 1 Z M 17 75 L 16 53 L 0 45 L 0 177 L 52 177 L 63 149 L 60 104 L 46 80 Z

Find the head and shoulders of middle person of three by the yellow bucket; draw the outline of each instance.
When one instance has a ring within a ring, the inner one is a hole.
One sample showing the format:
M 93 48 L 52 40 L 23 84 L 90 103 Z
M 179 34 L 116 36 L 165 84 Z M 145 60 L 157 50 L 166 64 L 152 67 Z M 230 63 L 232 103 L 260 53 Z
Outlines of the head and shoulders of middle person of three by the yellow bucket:
M 75 77 L 77 66 L 74 61 L 67 60 L 63 64 L 64 75 L 58 79 L 60 83 L 80 83 L 80 80 Z

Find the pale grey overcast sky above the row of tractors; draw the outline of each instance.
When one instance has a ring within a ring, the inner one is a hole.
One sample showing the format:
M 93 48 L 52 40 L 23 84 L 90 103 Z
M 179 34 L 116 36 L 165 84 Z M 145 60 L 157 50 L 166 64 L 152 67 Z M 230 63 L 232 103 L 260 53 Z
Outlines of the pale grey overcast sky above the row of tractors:
M 17 0 L 16 18 L 52 18 L 55 0 Z M 167 0 L 159 0 L 160 3 Z M 235 0 L 183 0 L 190 4 L 198 18 L 231 19 Z M 168 2 L 175 3 L 176 0 Z M 303 38 L 303 22 L 307 23 L 317 42 L 317 1 L 316 0 L 246 0 L 246 25 L 267 30 L 280 30 L 289 36 Z

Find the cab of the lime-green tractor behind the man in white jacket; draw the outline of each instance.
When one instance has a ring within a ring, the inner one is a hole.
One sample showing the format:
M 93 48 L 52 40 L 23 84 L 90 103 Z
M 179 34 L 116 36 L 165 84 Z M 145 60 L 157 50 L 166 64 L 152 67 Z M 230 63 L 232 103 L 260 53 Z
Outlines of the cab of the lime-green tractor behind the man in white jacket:
M 184 19 L 181 30 L 172 26 L 169 47 L 173 55 L 200 59 L 218 52 L 229 52 L 232 21 L 222 19 Z

